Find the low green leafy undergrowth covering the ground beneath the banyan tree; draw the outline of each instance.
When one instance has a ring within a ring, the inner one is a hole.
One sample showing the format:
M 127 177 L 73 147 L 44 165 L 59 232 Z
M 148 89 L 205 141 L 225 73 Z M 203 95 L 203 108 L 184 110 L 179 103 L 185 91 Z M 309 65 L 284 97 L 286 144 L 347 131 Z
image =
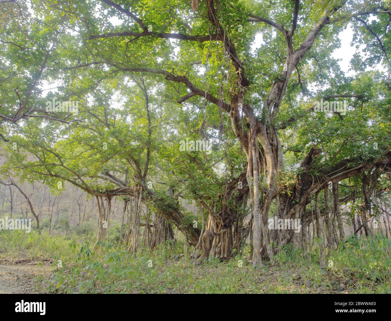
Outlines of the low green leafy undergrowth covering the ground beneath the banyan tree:
M 380 236 L 347 239 L 325 269 L 316 249 L 309 255 L 292 247 L 253 270 L 248 253 L 194 265 L 179 245 L 133 256 L 126 247 L 94 249 L 91 239 L 46 232 L 4 231 L 0 242 L 0 258 L 52 261 L 49 293 L 391 293 L 391 241 Z

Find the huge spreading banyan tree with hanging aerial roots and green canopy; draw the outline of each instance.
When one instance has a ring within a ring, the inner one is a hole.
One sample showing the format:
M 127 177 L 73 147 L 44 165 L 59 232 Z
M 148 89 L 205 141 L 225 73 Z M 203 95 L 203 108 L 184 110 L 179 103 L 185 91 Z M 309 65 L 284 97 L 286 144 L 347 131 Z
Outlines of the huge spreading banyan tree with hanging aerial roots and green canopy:
M 5 96 L 2 130 L 42 120 L 66 134 L 47 146 L 35 141 L 43 133 L 3 138 L 35 156 L 21 159 L 25 175 L 95 196 L 101 223 L 111 199 L 122 198 L 130 251 L 180 232 L 194 259 L 231 258 L 248 242 L 254 267 L 287 244 L 318 247 L 325 264 L 350 234 L 371 236 L 374 219 L 391 235 L 388 2 L 49 0 L 38 8 L 51 16 L 52 47 L 30 66 L 30 94 Z M 357 48 L 365 44 L 352 56 L 353 76 L 333 58 L 344 30 Z M 2 46 L 11 63 L 31 54 L 28 45 Z M 80 100 L 79 114 L 34 107 L 46 99 L 35 91 L 44 77 L 63 81 L 59 94 Z M 189 138 L 212 149 L 179 149 Z M 271 219 L 300 221 L 300 231 L 269 228 Z

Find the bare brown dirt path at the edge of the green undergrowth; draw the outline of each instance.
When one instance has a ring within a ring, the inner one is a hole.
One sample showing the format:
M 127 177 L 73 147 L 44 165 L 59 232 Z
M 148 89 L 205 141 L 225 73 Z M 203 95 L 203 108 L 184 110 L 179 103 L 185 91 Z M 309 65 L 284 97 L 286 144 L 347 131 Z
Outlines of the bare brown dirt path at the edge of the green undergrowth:
M 0 294 L 44 293 L 40 277 L 48 273 L 45 266 L 29 260 L 0 261 Z

